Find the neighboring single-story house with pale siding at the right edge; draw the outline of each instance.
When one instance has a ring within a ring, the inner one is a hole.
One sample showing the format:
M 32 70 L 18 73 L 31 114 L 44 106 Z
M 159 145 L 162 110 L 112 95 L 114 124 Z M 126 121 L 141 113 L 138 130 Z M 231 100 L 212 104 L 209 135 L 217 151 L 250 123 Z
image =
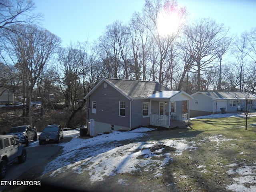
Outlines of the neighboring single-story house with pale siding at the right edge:
M 220 112 L 235 112 L 255 110 L 256 95 L 244 92 L 196 92 L 190 101 L 190 117 L 215 114 Z M 246 99 L 247 98 L 247 99 Z M 221 110 L 224 108 L 224 111 Z

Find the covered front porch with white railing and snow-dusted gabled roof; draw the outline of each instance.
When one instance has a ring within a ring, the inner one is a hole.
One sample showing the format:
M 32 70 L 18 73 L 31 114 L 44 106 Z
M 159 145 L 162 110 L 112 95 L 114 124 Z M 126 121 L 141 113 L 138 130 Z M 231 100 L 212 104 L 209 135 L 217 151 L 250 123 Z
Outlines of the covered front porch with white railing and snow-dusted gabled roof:
M 164 91 L 150 98 L 150 124 L 175 128 L 189 124 L 189 100 L 193 97 L 183 91 Z

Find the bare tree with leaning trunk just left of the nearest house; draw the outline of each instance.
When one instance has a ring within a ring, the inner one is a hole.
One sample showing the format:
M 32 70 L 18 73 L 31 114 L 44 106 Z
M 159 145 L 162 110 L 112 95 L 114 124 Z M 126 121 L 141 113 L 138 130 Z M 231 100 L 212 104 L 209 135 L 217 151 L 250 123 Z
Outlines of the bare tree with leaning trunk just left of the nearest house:
M 87 80 L 90 78 L 91 58 L 87 48 L 87 42 L 78 42 L 75 45 L 70 44 L 67 48 L 60 48 L 58 52 L 59 85 L 70 112 L 70 116 L 65 121 L 67 127 L 71 125 L 70 122 L 76 113 L 84 107 L 83 98 L 89 91 L 90 82 Z

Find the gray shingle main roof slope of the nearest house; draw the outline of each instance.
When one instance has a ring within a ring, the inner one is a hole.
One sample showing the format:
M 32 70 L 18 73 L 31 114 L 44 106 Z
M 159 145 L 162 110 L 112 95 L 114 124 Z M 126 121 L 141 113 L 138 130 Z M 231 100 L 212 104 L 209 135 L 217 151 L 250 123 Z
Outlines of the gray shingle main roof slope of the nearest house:
M 126 80 L 105 78 L 113 87 L 120 90 L 129 98 L 147 98 L 150 94 L 171 89 L 154 81 Z

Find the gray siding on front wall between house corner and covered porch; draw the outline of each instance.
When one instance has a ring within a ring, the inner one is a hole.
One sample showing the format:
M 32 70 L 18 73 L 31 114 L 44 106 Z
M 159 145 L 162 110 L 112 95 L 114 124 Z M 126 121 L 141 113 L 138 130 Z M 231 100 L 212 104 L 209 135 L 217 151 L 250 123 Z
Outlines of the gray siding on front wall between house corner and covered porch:
M 150 110 L 149 116 L 143 117 L 143 102 L 149 102 L 149 99 L 133 100 L 132 101 L 132 128 L 137 128 L 139 126 L 148 126 L 150 125 Z M 149 105 L 151 108 L 151 106 Z

